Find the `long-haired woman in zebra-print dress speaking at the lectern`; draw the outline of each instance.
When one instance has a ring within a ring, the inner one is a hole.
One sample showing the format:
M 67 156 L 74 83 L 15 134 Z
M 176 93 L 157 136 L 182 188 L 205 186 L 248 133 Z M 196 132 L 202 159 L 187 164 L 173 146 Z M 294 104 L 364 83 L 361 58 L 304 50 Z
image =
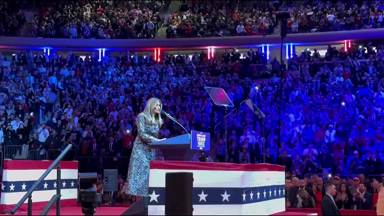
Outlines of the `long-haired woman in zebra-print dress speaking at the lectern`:
M 131 160 L 128 166 L 128 185 L 126 194 L 135 196 L 148 195 L 149 162 L 155 160 L 155 150 L 151 144 L 156 141 L 163 122 L 160 116 L 161 101 L 157 98 L 148 100 L 144 112 L 136 119 L 137 137 L 133 143 Z M 162 139 L 165 140 L 165 139 Z

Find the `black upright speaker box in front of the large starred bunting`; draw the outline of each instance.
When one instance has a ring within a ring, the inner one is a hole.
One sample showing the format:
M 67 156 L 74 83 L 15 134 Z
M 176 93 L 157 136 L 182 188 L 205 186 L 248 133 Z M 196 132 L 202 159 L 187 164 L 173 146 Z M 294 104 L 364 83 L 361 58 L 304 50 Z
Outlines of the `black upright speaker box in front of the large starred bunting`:
M 193 173 L 166 173 L 165 215 L 193 215 Z

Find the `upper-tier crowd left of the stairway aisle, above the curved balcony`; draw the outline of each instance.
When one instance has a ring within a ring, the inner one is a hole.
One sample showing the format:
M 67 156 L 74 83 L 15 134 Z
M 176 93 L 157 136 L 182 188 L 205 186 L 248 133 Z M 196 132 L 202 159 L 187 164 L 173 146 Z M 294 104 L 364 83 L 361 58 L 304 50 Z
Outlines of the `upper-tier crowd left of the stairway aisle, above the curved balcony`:
M 28 4 L 24 1 L 0 3 L 0 36 L 153 38 L 161 22 L 160 1 L 41 1 L 37 2 L 38 13 L 30 23 L 26 23 L 25 14 L 17 9 L 22 5 L 13 7 L 17 2 L 22 2 L 24 7 Z

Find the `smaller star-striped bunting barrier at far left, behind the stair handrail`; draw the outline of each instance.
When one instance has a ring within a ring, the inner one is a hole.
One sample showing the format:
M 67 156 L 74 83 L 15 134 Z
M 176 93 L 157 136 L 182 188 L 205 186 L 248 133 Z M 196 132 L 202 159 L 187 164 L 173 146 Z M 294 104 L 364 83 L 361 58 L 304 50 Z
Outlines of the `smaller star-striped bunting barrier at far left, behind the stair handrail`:
M 5 160 L 0 199 L 0 212 L 10 212 L 26 191 L 40 178 L 53 161 Z M 56 168 L 44 179 L 32 193 L 33 211 L 42 210 L 56 194 L 56 187 L 61 185 L 61 205 L 76 206 L 78 185 L 78 162 L 61 161 L 61 182 L 56 181 Z M 27 211 L 27 201 L 20 207 L 20 212 Z M 55 206 L 53 208 L 56 208 Z

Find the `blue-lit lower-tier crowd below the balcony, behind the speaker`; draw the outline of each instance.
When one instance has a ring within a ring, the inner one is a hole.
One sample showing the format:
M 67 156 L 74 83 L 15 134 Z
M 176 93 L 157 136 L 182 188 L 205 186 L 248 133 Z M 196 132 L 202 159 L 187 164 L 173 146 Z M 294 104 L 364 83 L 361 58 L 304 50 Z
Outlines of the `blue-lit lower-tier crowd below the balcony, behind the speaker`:
M 68 144 L 72 157 L 129 157 L 136 116 L 146 100 L 157 97 L 188 131 L 215 137 L 213 151 L 205 153 L 211 161 L 226 161 L 227 121 L 229 163 L 262 163 L 265 152 L 266 163 L 280 164 L 300 179 L 333 173 L 349 183 L 351 175 L 362 173 L 382 181 L 383 52 L 381 45 L 376 51 L 368 44 L 348 52 L 329 46 L 324 57 L 306 50 L 288 65 L 273 59 L 271 68 L 263 66 L 266 58 L 258 50 L 241 58 L 233 49 L 210 59 L 204 51 L 192 58 L 164 52 L 160 63 L 149 54 L 129 52 L 101 61 L 71 51 L 35 57 L 29 51 L 12 60 L 0 55 L 2 62 L 10 61 L 0 75 L 3 156 L 20 154 L 21 148 L 12 147 L 16 143 L 38 152 L 30 160 L 51 150 L 60 153 Z M 227 118 L 204 86 L 226 91 L 235 105 Z M 265 121 L 243 103 L 246 98 Z M 48 111 L 53 115 L 45 121 Z M 159 138 L 185 133 L 164 121 Z M 156 158 L 164 160 L 159 151 Z

